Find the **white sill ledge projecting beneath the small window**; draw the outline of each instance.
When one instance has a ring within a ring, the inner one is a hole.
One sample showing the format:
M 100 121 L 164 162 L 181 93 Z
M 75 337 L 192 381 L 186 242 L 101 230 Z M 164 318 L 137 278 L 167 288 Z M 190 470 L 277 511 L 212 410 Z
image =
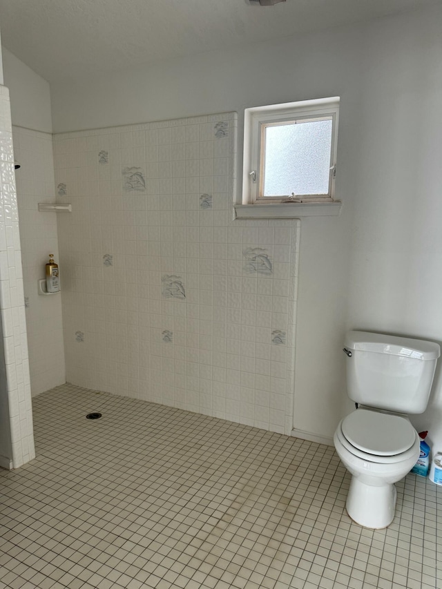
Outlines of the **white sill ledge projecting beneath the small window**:
M 300 217 L 336 217 L 342 202 L 280 202 L 235 204 L 236 219 L 298 219 Z

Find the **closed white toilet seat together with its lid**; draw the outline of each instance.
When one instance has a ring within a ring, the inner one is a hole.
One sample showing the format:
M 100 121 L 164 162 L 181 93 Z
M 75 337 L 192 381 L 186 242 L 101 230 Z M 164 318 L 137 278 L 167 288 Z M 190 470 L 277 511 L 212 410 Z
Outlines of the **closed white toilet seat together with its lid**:
M 340 422 L 336 434 L 349 452 L 365 461 L 391 464 L 415 454 L 416 430 L 400 416 L 357 409 Z

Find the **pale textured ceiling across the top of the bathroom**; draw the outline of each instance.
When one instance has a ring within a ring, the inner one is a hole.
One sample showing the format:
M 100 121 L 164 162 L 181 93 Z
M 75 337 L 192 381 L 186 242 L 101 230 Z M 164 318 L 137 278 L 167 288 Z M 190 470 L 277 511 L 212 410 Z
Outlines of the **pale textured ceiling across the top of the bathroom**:
M 441 0 L 0 0 L 1 41 L 48 81 L 366 21 Z

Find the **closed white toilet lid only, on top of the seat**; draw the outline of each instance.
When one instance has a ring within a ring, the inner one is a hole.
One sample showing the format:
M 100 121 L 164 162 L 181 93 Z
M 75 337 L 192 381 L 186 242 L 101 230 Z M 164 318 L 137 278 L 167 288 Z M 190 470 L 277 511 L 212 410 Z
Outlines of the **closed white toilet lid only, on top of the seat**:
M 347 415 L 341 430 L 354 447 L 378 456 L 401 454 L 416 439 L 414 427 L 405 418 L 368 409 L 357 409 Z

